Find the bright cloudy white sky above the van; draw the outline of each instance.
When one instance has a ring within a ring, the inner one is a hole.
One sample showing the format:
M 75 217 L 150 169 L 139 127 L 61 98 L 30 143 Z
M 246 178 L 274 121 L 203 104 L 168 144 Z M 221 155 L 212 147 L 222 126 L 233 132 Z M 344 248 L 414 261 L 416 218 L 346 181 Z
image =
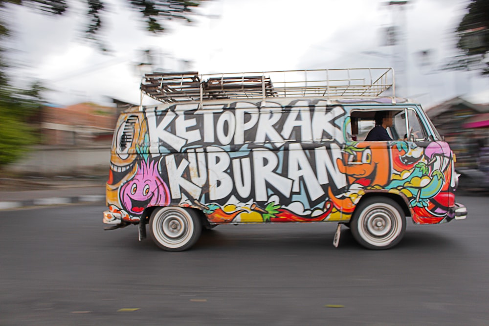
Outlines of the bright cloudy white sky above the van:
M 454 29 L 465 0 L 410 0 L 388 6 L 382 0 L 212 0 L 190 24 L 168 22 L 167 33 L 151 35 L 127 1 L 107 0 L 100 36 L 103 54 L 81 37 L 83 3 L 52 18 L 21 6 L 9 8 L 15 32 L 8 42 L 21 84 L 42 80 L 52 89 L 49 103 L 107 104 L 110 97 L 138 104 L 141 76 L 150 70 L 199 73 L 295 69 L 390 67 L 396 94 L 425 109 L 455 96 L 489 103 L 489 78 L 477 71 L 439 68 L 457 53 Z M 400 26 L 402 42 L 387 46 L 382 33 Z M 150 49 L 153 66 L 146 62 Z M 422 56 L 420 53 L 428 53 Z

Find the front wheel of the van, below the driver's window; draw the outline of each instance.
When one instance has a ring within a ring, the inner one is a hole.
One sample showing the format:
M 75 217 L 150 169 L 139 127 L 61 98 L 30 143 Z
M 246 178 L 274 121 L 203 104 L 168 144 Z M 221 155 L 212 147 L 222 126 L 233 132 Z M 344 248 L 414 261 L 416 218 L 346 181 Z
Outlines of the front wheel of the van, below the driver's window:
M 406 217 L 399 204 L 387 197 L 360 202 L 350 222 L 355 240 L 368 249 L 389 249 L 406 231 Z

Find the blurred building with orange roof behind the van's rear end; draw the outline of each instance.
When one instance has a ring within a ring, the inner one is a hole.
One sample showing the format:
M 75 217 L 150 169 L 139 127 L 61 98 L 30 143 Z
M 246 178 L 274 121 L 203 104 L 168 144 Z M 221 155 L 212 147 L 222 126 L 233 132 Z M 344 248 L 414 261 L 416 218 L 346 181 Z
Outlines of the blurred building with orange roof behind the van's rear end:
M 116 108 L 89 102 L 67 107 L 47 105 L 41 114 L 41 143 L 81 146 L 110 144 L 117 113 Z

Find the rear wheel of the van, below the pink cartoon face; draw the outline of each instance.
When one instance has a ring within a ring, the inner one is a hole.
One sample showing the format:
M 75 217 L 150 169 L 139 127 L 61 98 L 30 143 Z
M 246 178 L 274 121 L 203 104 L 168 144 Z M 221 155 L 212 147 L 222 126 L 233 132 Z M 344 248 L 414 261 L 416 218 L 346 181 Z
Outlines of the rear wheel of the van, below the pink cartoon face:
M 202 222 L 198 212 L 182 207 L 161 207 L 153 211 L 149 223 L 150 236 L 167 251 L 184 251 L 200 237 Z

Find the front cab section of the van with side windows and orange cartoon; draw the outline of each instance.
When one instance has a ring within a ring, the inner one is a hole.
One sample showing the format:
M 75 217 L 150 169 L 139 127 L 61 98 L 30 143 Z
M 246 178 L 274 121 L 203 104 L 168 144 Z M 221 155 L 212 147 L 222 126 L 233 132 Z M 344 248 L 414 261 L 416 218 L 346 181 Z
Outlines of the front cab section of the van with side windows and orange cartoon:
M 392 117 L 390 124 L 383 124 L 392 140 L 365 141 L 379 110 Z M 351 140 L 343 152 L 353 205 L 365 193 L 388 191 L 408 202 L 417 223 L 438 223 L 446 217 L 454 200 L 451 151 L 445 142 L 435 141 L 420 114 L 415 107 L 351 111 Z

